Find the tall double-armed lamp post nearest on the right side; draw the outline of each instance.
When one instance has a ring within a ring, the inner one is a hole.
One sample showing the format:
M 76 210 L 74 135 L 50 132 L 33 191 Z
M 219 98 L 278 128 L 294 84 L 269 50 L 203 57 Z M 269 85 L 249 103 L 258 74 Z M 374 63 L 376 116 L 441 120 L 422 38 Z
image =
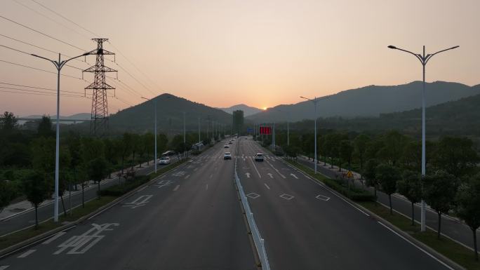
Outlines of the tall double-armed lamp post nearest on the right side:
M 410 53 L 411 55 L 415 56 L 418 60 L 420 60 L 420 63 L 422 64 L 422 69 L 423 69 L 423 83 L 422 83 L 422 178 L 425 177 L 425 66 L 427 65 L 427 62 L 437 53 L 442 53 L 446 50 L 453 50 L 454 48 L 458 48 L 460 46 L 454 46 L 451 48 L 446 48 L 445 50 L 439 50 L 436 53 L 432 54 L 427 54 L 425 55 L 425 46 L 423 46 L 423 53 L 412 53 L 409 50 L 404 50 L 402 48 L 397 48 L 396 46 L 388 46 L 388 48 L 391 48 L 393 50 L 401 50 L 404 51 L 405 53 Z M 425 226 L 425 201 L 422 198 L 422 202 L 420 203 L 421 205 L 421 211 L 420 211 L 420 231 L 425 231 L 426 226 Z

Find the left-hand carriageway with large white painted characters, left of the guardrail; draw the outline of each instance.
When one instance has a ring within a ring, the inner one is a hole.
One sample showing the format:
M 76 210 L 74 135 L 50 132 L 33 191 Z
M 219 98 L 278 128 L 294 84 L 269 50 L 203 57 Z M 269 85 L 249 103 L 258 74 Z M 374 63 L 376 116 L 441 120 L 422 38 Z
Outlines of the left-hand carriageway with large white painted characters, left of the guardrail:
M 91 220 L 0 258 L 0 269 L 255 269 L 223 152 L 218 144 Z

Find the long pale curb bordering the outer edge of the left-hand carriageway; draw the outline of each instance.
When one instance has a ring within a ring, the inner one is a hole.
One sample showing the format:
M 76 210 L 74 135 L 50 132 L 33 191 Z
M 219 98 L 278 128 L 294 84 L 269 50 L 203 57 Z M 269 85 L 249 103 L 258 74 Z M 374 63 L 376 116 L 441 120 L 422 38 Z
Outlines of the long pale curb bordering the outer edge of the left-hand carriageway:
M 132 189 L 131 191 L 128 191 L 126 194 L 122 195 L 122 196 L 119 196 L 118 198 L 114 199 L 113 201 L 107 203 L 106 205 L 103 205 L 101 206 L 100 208 L 98 208 L 97 210 L 93 211 L 93 212 L 90 212 L 88 213 L 87 215 L 84 215 L 82 217 L 79 217 L 78 220 L 75 220 L 73 222 L 69 222 L 68 224 L 65 224 L 65 225 L 62 225 L 58 228 L 55 228 L 55 229 L 52 229 L 51 231 L 46 231 L 44 232 L 43 234 L 39 234 L 38 236 L 34 236 L 32 238 L 29 238 L 25 241 L 22 241 L 20 243 L 16 243 L 14 245 L 11 245 L 9 246 L 8 248 L 4 248 L 3 250 L 0 250 L 0 259 L 2 257 L 6 257 L 8 255 L 11 255 L 13 252 L 17 252 L 17 251 L 20 251 L 24 248 L 27 248 L 29 247 L 30 245 L 34 245 L 40 241 L 43 241 L 44 239 L 52 236 L 53 234 L 57 234 L 58 232 L 60 231 L 65 231 L 67 229 L 70 229 L 70 228 L 73 228 L 73 227 L 76 227 L 77 224 L 81 223 L 81 222 L 84 222 L 85 220 L 89 220 L 91 219 L 92 217 L 95 217 L 96 215 L 99 215 L 101 212 L 104 212 L 106 210 L 109 210 L 110 208 L 114 207 L 116 204 L 118 204 L 120 201 L 123 201 L 124 199 L 132 196 L 133 194 L 135 194 L 139 189 L 142 189 L 143 187 L 147 187 L 149 186 L 150 184 L 152 184 L 154 181 L 157 180 L 157 178 L 163 176 L 163 175 L 166 175 L 166 173 L 170 173 L 171 170 L 175 170 L 177 168 L 180 168 L 182 166 L 185 166 L 185 164 L 187 164 L 187 161 L 185 161 L 184 163 L 180 164 L 179 166 L 175 166 L 174 168 L 171 168 L 169 170 L 167 170 L 165 173 L 162 173 L 161 175 L 158 175 L 156 177 L 154 177 L 153 179 L 149 180 L 148 182 L 145 182 L 143 184 L 140 184 L 140 186 L 136 187 L 135 189 Z

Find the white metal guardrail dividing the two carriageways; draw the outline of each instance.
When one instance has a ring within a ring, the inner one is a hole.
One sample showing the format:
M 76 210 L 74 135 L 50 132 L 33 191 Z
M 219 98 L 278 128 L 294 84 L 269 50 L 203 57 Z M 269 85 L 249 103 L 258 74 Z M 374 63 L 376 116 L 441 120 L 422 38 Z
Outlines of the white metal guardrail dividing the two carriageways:
M 251 230 L 253 243 L 255 243 L 255 248 L 257 249 L 258 257 L 260 258 L 260 263 L 262 264 L 262 269 L 270 270 L 270 265 L 268 263 L 268 258 L 267 258 L 267 252 L 265 251 L 265 240 L 262 238 L 262 236 L 260 236 L 260 231 L 258 231 L 257 224 L 255 224 L 255 220 L 253 219 L 253 212 L 250 210 L 250 205 L 248 205 L 244 188 L 241 187 L 239 175 L 236 173 L 236 158 L 235 158 L 235 182 L 236 182 L 236 187 L 239 189 L 241 204 L 244 205 L 248 226 L 250 227 L 250 230 Z

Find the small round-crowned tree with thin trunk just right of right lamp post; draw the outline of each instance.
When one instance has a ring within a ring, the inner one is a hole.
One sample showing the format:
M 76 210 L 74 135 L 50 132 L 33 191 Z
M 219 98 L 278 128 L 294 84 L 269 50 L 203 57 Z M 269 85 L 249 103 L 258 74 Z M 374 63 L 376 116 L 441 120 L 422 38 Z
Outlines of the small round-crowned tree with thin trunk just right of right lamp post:
M 433 175 L 427 175 L 424 182 L 425 201 L 439 216 L 439 228 L 436 231 L 436 237 L 440 238 L 441 214 L 451 210 L 457 192 L 458 180 L 454 175 L 444 170 L 437 170 Z

